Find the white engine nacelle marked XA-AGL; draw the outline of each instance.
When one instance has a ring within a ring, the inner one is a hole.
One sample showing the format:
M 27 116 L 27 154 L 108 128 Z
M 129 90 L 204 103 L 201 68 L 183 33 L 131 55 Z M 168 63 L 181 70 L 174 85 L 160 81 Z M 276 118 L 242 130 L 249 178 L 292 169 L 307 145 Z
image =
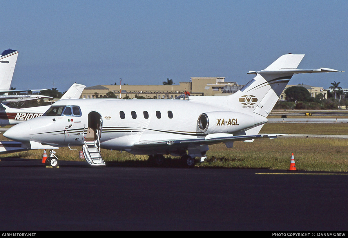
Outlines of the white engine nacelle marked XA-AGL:
M 198 117 L 201 131 L 211 133 L 234 133 L 254 126 L 254 118 L 240 112 L 217 111 L 202 113 Z

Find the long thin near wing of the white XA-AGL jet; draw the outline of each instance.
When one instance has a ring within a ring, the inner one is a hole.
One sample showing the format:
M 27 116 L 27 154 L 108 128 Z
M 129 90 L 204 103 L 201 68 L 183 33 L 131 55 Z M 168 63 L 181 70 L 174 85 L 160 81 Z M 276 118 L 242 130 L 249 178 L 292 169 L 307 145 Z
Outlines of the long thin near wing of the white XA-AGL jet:
M 201 138 L 192 139 L 173 139 L 173 140 L 145 140 L 134 143 L 136 147 L 150 147 L 150 146 L 177 146 L 177 145 L 212 145 L 216 143 L 227 143 L 234 141 L 245 141 L 261 138 L 275 139 L 278 136 L 284 136 L 287 134 L 258 134 L 258 135 L 240 135 L 234 136 L 227 133 L 209 134 Z

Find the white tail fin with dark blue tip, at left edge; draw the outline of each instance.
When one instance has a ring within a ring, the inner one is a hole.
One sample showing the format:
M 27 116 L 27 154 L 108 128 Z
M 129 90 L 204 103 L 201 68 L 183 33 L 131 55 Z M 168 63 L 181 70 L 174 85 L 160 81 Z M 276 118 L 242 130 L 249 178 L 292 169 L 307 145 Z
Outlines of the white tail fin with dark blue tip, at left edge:
M 0 55 L 0 90 L 9 90 L 17 62 L 17 50 L 4 50 Z

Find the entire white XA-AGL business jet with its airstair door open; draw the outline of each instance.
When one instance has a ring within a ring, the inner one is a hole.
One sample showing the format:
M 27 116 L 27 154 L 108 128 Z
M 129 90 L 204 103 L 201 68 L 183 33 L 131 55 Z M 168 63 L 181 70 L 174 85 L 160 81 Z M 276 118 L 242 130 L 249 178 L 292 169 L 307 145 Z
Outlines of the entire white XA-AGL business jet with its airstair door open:
M 39 118 L 22 122 L 3 135 L 21 148 L 81 146 L 90 165 L 105 165 L 100 148 L 148 154 L 157 162 L 164 154 L 181 156 L 192 167 L 209 145 L 252 142 L 283 134 L 258 134 L 294 74 L 340 72 L 297 69 L 303 54 L 285 54 L 228 96 L 189 96 L 186 100 L 60 100 Z M 19 145 L 19 144 L 18 144 Z M 187 153 L 188 151 L 188 153 Z M 48 163 L 55 166 L 57 160 Z

